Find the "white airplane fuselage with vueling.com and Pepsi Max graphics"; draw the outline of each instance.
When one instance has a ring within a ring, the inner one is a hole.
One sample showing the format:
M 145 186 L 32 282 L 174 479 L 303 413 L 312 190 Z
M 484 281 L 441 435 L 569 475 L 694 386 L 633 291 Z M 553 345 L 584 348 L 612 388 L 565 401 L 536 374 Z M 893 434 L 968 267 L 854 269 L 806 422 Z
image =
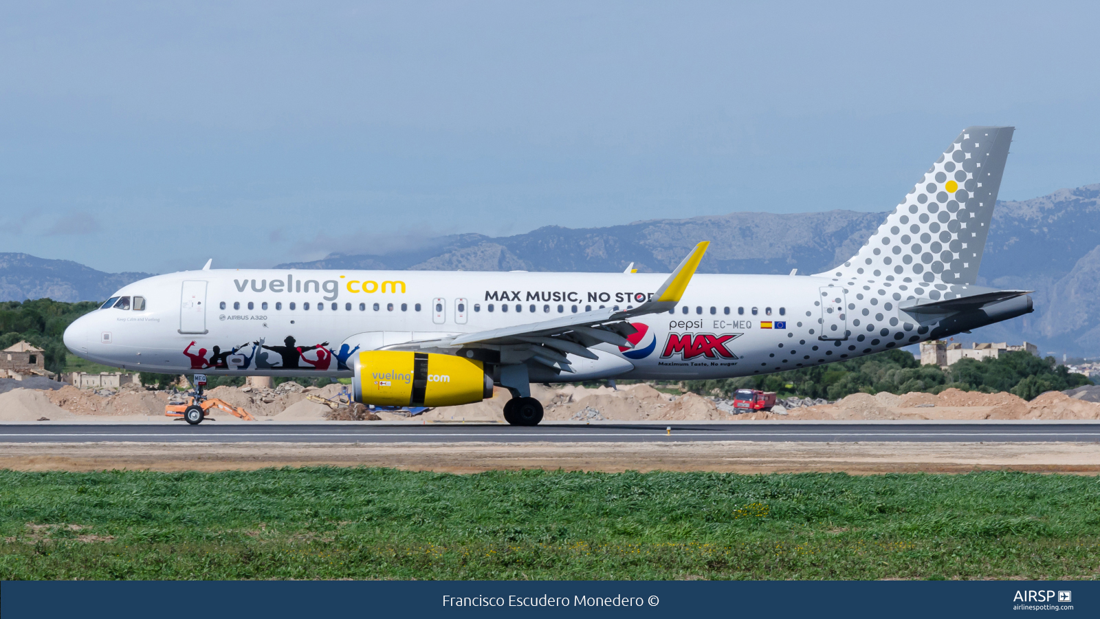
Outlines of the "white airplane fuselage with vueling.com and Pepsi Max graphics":
M 346 377 L 343 361 L 356 350 L 638 306 L 666 278 L 188 271 L 124 286 L 114 296 L 140 296 L 143 310 L 92 312 L 66 330 L 65 344 L 86 359 L 148 372 Z M 570 356 L 575 373 L 536 371 L 531 380 L 730 378 L 878 352 L 928 337 L 897 306 L 913 295 L 898 282 L 696 274 L 671 314 L 630 319 L 639 329 L 634 349 L 600 345 L 598 360 Z M 846 339 L 820 339 L 845 332 Z

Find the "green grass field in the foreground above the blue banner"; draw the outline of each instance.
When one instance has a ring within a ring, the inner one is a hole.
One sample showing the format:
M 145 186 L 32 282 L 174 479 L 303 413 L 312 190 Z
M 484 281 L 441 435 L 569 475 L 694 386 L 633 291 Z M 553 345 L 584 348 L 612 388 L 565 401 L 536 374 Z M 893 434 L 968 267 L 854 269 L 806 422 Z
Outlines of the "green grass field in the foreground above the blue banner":
M 1098 578 L 1100 480 L 0 471 L 0 578 Z

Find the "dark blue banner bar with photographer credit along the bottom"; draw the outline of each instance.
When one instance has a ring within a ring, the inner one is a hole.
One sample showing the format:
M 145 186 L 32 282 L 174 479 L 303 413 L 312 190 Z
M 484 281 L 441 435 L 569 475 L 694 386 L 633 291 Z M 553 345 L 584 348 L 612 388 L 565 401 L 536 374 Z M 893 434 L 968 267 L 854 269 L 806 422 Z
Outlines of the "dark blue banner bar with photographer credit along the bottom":
M 3 582 L 3 619 L 1100 616 L 1097 582 Z

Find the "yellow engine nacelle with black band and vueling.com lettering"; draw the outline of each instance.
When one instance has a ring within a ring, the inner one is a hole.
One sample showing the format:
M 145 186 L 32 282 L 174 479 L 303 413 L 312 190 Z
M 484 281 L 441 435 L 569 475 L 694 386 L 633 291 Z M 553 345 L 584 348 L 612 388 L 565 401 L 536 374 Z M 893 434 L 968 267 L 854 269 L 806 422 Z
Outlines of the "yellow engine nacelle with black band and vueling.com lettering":
M 355 362 L 354 398 L 376 406 L 453 406 L 493 397 L 481 361 L 404 350 L 366 350 Z

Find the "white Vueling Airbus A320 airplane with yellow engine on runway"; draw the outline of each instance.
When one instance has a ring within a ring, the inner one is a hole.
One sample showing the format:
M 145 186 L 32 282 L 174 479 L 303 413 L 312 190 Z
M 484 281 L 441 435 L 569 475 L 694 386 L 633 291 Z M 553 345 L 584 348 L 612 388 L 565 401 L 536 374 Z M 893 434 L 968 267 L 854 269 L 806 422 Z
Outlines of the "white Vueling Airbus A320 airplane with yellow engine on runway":
M 499 385 L 514 425 L 542 420 L 531 382 L 721 379 L 873 355 L 1032 312 L 1031 291 L 975 284 L 1013 131 L 965 129 L 855 256 L 810 276 L 696 274 L 706 241 L 669 275 L 208 261 L 123 286 L 64 341 L 128 370 L 352 378 L 364 404 L 465 404 Z

